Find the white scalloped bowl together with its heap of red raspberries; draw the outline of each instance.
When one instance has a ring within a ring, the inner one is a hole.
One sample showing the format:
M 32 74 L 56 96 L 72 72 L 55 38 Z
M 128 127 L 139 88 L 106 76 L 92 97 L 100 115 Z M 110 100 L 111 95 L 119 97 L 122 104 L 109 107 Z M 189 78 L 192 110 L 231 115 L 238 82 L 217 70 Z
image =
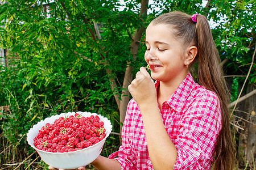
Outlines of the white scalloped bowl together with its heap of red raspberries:
M 68 112 L 38 122 L 28 130 L 27 142 L 46 164 L 76 169 L 100 155 L 111 131 L 111 122 L 100 114 Z

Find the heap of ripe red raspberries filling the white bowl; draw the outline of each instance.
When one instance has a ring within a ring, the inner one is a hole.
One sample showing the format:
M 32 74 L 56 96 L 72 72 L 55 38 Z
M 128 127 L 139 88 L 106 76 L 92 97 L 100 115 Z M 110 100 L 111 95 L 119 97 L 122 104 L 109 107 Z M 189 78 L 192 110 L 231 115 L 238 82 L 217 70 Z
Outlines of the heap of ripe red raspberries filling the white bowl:
M 102 141 L 106 137 L 105 132 L 100 117 L 81 117 L 77 113 L 43 126 L 34 138 L 34 146 L 47 152 L 71 152 Z

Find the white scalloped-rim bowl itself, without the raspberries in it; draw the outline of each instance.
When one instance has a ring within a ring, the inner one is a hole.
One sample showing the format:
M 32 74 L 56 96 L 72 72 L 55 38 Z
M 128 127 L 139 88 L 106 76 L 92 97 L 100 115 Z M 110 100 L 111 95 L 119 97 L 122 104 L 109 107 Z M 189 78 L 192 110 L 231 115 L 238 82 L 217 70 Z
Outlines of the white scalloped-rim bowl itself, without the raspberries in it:
M 71 115 L 75 115 L 75 113 L 79 113 L 81 116 L 84 117 L 98 115 L 100 117 L 100 121 L 104 122 L 104 128 L 106 129 L 106 137 L 102 139 L 102 141 L 96 143 L 95 145 L 73 152 L 46 152 L 39 150 L 34 146 L 34 138 L 43 126 L 45 126 L 47 123 L 53 124 L 53 122 L 60 117 L 68 117 Z M 34 148 L 38 152 L 38 154 L 41 156 L 41 159 L 46 164 L 51 165 L 52 167 L 55 168 L 76 169 L 78 167 L 82 167 L 92 163 L 93 160 L 95 160 L 100 155 L 106 138 L 109 136 L 111 131 L 111 122 L 108 120 L 108 118 L 103 117 L 100 114 L 90 112 L 68 112 L 61 113 L 52 117 L 47 117 L 44 121 L 42 120 L 38 122 L 38 124 L 34 125 L 33 128 L 28 130 L 27 142 L 32 148 Z

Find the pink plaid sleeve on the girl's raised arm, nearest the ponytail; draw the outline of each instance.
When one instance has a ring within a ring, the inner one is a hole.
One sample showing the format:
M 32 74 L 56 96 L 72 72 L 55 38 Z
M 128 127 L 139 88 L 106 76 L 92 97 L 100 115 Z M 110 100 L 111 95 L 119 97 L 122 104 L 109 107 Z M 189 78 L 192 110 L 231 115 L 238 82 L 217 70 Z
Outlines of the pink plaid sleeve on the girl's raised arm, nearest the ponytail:
M 213 92 L 204 93 L 184 114 L 175 139 L 177 161 L 174 169 L 210 169 L 214 145 L 221 129 L 217 96 Z

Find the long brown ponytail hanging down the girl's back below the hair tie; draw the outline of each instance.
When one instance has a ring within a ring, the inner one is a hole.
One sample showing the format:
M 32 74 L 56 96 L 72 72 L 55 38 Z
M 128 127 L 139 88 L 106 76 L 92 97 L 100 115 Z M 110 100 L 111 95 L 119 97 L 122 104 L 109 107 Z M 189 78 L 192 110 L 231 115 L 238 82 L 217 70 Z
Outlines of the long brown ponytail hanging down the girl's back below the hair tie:
M 220 65 L 220 56 L 214 44 L 209 23 L 204 15 L 196 17 L 198 78 L 199 83 L 218 96 L 221 108 L 222 128 L 217 137 L 214 169 L 225 170 L 234 167 L 234 147 L 230 133 L 228 109 L 229 93 Z

